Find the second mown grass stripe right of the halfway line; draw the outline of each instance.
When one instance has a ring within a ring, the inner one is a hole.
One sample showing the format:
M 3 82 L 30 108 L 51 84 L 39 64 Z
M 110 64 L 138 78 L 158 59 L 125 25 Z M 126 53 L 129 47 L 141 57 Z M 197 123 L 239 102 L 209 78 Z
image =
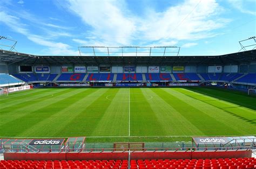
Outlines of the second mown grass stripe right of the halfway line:
M 165 102 L 165 100 L 154 93 L 152 89 L 142 88 L 141 90 L 144 96 L 153 97 L 153 99 L 148 100 L 147 102 L 149 102 L 151 109 L 156 112 L 159 125 L 162 126 L 168 136 L 204 135 L 200 129 L 184 118 L 179 111 Z M 159 134 L 156 133 L 156 136 L 159 136 Z

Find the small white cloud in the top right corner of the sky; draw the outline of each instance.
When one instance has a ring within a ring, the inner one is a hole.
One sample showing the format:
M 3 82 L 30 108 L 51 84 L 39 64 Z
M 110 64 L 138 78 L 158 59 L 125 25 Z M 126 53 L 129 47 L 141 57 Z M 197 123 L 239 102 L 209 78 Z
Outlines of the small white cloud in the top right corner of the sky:
M 228 0 L 233 8 L 238 9 L 242 13 L 256 15 L 256 1 L 255 0 Z

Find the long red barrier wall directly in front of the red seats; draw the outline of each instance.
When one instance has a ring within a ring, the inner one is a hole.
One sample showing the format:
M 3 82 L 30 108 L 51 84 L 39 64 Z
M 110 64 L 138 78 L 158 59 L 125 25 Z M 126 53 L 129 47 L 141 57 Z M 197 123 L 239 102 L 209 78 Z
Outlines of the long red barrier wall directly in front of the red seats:
M 227 151 L 133 151 L 131 159 L 207 159 L 251 157 L 251 150 Z M 5 152 L 5 160 L 116 160 L 128 159 L 128 152 Z

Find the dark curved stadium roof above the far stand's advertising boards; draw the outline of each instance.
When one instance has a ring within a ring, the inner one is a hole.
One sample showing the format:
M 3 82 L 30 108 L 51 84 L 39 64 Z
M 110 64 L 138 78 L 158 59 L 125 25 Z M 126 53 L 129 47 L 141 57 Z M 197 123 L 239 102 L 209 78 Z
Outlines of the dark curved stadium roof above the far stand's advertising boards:
M 0 50 L 0 62 L 19 65 L 223 65 L 256 61 L 256 50 L 204 56 L 47 56 Z

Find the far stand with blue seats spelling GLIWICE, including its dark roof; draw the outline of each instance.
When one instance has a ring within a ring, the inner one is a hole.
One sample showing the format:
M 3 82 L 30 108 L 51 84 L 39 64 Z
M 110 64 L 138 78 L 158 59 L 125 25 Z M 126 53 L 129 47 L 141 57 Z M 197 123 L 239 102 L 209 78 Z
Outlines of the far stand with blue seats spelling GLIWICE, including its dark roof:
M 0 51 L 0 73 L 2 87 L 215 85 L 247 91 L 256 86 L 256 50 L 204 56 L 46 56 Z

